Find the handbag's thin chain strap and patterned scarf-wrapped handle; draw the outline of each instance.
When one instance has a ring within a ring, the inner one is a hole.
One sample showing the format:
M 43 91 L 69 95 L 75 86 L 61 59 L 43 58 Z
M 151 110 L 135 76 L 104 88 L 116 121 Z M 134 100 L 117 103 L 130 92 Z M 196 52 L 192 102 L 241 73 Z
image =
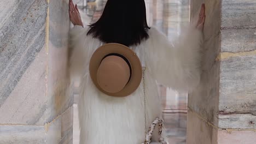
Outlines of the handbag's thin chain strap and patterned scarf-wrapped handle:
M 147 119 L 146 119 L 146 83 L 145 83 L 145 71 L 146 67 L 143 68 L 142 71 L 142 78 L 143 78 L 143 93 L 144 93 L 144 117 L 145 117 L 145 131 L 147 129 Z M 151 138 L 153 135 L 153 131 L 155 130 L 155 126 L 158 124 L 158 135 L 159 139 L 158 142 L 151 142 Z M 162 127 L 163 127 L 163 121 L 162 118 L 156 118 L 154 122 L 150 125 L 149 130 L 146 133 L 145 141 L 142 144 L 167 144 L 167 142 L 164 140 L 164 137 L 161 136 L 162 134 Z

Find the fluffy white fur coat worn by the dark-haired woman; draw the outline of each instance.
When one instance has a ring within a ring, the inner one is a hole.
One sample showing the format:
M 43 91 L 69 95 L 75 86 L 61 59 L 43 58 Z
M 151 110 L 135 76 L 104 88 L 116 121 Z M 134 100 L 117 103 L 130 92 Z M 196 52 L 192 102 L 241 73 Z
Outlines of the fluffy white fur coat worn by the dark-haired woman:
M 87 36 L 87 31 L 74 26 L 70 33 L 71 75 L 80 79 L 80 144 L 141 144 L 145 138 L 142 82 L 134 93 L 124 98 L 109 97 L 98 91 L 89 75 L 89 61 L 101 41 Z M 199 83 L 202 44 L 201 32 L 192 26 L 173 41 L 168 41 L 154 27 L 148 34 L 148 40 L 131 46 L 147 68 L 147 127 L 156 117 L 161 117 L 156 81 L 183 91 L 190 91 Z M 157 139 L 158 135 L 154 134 L 152 141 Z

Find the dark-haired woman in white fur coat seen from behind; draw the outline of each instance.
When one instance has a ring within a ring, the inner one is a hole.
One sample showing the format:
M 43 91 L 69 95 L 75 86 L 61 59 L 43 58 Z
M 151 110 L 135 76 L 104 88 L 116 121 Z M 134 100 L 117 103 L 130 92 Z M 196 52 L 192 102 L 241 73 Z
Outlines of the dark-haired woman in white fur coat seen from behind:
M 156 28 L 149 28 L 144 0 L 108 0 L 101 18 L 83 26 L 77 5 L 69 3 L 71 74 L 79 76 L 80 144 L 138 144 L 145 139 L 143 82 L 127 97 L 109 97 L 98 91 L 89 74 L 89 61 L 102 44 L 119 43 L 135 51 L 146 67 L 147 127 L 161 117 L 156 81 L 173 89 L 190 91 L 200 81 L 202 30 L 205 7 L 196 25 L 168 41 Z M 158 136 L 153 135 L 152 141 Z

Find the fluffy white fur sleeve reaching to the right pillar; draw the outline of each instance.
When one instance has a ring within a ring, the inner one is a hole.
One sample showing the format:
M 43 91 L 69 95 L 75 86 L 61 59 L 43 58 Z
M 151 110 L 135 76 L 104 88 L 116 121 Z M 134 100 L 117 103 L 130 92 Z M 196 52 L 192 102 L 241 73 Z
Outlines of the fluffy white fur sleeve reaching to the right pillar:
M 200 82 L 202 32 L 190 26 L 169 41 L 156 28 L 149 30 L 146 57 L 156 81 L 178 91 L 188 92 Z

